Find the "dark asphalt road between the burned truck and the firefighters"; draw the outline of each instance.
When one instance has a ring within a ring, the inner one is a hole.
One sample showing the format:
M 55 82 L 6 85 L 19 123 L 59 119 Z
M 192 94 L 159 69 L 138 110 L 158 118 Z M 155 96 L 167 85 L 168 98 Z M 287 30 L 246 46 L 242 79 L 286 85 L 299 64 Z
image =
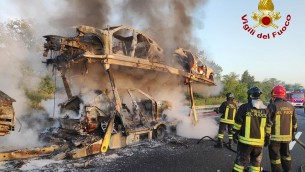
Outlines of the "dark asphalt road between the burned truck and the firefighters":
M 298 131 L 305 133 L 305 115 L 303 109 L 297 109 Z M 104 166 L 105 171 L 200 171 L 200 172 L 229 172 L 232 170 L 236 154 L 228 149 L 215 149 L 214 142 L 203 140 L 197 144 L 198 139 L 171 138 L 164 145 L 148 148 L 141 145 L 134 149 L 133 155 L 117 159 Z M 299 138 L 305 142 L 304 134 Z M 142 149 L 145 151 L 137 151 Z M 236 145 L 233 149 L 236 150 Z M 301 171 L 305 165 L 305 149 L 295 144 L 292 151 L 292 171 Z M 269 154 L 264 148 L 262 167 L 271 171 Z M 101 170 L 103 167 L 101 167 Z M 88 169 L 89 170 L 89 169 Z M 102 170 L 103 171 L 103 170 Z

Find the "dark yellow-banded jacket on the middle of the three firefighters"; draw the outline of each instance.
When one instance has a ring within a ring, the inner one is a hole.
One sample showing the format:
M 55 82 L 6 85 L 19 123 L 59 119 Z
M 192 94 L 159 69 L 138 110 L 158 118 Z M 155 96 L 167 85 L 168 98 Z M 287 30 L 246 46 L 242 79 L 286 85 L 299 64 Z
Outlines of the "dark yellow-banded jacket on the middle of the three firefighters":
M 245 103 L 237 111 L 233 131 L 239 132 L 239 142 L 251 146 L 263 146 L 266 134 L 270 135 L 271 125 L 267 108 L 257 109 L 252 103 Z

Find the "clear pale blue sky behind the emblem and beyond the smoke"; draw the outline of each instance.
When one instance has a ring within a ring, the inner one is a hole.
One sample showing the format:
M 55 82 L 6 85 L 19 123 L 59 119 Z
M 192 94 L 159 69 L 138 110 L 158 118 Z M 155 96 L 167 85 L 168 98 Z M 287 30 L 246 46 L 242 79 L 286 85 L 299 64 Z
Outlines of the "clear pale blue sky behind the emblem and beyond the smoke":
M 30 1 L 35 3 L 16 8 L 16 3 L 1 0 L 0 20 L 24 17 L 24 13 L 20 11 L 22 9 L 31 13 L 34 18 L 55 12 L 50 3 L 56 2 L 55 0 Z M 35 5 L 42 2 L 45 9 L 35 9 Z M 198 48 L 204 50 L 209 59 L 222 67 L 222 75 L 234 72 L 241 76 L 248 70 L 257 81 L 276 78 L 287 84 L 300 83 L 305 87 L 305 1 L 273 0 L 274 12 L 280 12 L 281 16 L 279 20 L 274 21 L 279 28 L 260 26 L 255 29 L 255 34 L 251 35 L 243 29 L 242 16 L 247 15 L 250 27 L 256 25 L 257 21 L 254 21 L 251 15 L 253 12 L 259 12 L 258 3 L 259 0 L 209 0 L 202 7 L 198 7 L 199 10 L 193 14 L 200 20 L 194 23 L 193 27 L 195 41 L 199 42 Z M 29 10 L 26 10 L 27 8 Z M 291 20 L 282 35 L 275 38 L 271 35 L 270 39 L 256 37 L 258 33 L 272 34 L 282 29 L 287 15 L 291 16 Z

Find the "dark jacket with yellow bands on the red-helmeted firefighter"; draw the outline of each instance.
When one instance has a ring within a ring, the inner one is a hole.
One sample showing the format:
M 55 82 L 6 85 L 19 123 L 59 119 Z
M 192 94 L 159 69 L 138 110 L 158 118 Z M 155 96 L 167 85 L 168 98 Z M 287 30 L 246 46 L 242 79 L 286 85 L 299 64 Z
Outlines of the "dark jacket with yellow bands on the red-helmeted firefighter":
M 273 123 L 270 140 L 290 142 L 298 127 L 295 108 L 283 99 L 275 99 L 269 109 Z

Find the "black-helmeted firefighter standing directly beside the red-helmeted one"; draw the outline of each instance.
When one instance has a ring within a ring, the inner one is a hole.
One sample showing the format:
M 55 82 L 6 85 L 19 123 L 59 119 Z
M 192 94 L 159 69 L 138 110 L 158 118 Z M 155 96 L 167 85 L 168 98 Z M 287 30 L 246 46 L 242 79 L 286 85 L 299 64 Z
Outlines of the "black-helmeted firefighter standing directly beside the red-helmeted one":
M 243 172 L 250 161 L 250 171 L 260 171 L 263 146 L 270 137 L 272 123 L 268 108 L 260 100 L 261 90 L 248 90 L 248 103 L 242 104 L 236 114 L 233 126 L 233 141 L 237 143 L 237 155 L 233 171 Z

